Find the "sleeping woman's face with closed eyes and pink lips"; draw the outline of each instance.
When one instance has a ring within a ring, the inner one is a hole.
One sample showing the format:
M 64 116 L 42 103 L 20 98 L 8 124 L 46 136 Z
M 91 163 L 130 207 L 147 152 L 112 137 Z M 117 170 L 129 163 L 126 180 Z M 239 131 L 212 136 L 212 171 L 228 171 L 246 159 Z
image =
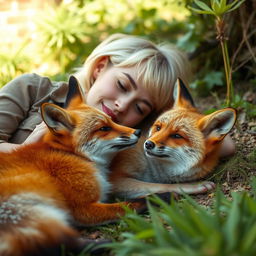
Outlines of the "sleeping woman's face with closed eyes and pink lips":
M 134 127 L 154 109 L 149 93 L 136 79 L 136 68 L 98 65 L 94 78 L 86 102 L 113 121 Z

